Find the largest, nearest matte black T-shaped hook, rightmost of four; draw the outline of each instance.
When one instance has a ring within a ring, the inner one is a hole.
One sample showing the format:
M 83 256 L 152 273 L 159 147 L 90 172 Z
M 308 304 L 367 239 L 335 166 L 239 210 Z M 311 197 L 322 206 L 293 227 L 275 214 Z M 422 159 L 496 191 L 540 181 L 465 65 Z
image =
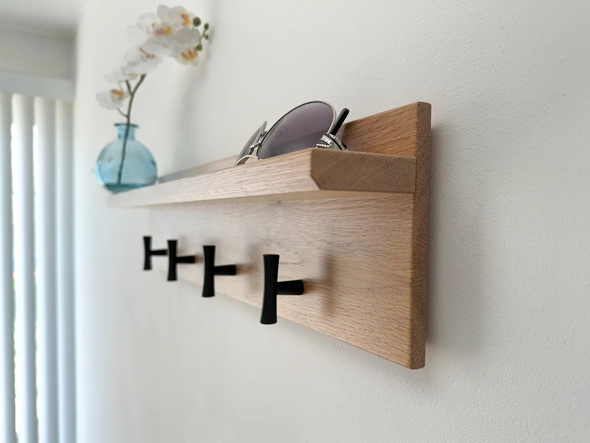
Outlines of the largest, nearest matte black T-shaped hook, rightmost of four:
M 277 282 L 278 258 L 276 254 L 264 254 L 264 295 L 262 299 L 262 315 L 260 323 L 277 323 L 277 295 L 303 294 L 303 281 L 289 280 Z

